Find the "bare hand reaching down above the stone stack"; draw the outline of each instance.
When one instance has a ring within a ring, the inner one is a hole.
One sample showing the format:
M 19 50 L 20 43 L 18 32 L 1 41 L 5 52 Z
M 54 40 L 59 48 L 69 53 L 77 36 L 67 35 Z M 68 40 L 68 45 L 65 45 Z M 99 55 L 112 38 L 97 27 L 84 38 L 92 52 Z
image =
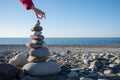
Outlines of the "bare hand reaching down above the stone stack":
M 38 19 L 46 18 L 45 13 L 41 11 L 40 9 L 36 8 L 35 6 L 31 6 L 31 9 L 34 11 Z

